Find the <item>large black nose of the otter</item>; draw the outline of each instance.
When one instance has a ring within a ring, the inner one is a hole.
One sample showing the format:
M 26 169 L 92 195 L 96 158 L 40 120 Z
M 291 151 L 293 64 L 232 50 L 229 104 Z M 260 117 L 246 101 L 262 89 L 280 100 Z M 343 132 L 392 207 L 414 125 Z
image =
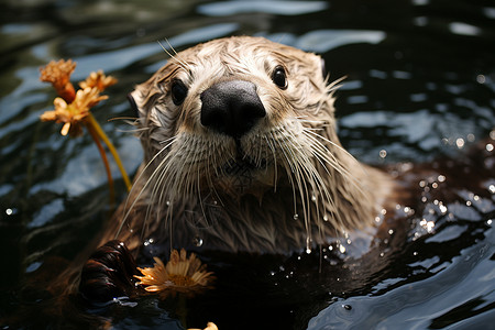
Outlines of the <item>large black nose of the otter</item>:
M 256 86 L 244 80 L 218 82 L 201 94 L 201 124 L 239 139 L 266 116 Z

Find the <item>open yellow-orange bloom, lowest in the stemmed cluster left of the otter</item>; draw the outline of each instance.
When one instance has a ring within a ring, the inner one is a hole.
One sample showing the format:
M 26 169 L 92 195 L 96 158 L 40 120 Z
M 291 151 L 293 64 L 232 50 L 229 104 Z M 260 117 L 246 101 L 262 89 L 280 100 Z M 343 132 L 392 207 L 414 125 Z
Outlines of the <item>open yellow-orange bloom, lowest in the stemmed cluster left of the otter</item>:
M 77 136 L 82 133 L 81 124 L 89 116 L 89 109 L 107 99 L 97 88 L 79 89 L 73 102 L 67 103 L 63 98 L 55 98 L 55 110 L 46 111 L 41 116 L 42 121 L 56 121 L 64 123 L 61 134 Z

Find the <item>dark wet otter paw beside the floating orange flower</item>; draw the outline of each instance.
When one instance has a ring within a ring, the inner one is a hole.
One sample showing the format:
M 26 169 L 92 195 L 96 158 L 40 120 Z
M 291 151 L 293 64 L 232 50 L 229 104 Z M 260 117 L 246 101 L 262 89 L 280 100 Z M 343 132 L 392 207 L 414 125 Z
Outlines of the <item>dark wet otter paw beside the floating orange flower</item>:
M 134 257 L 121 241 L 110 241 L 88 258 L 80 274 L 79 293 L 89 301 L 105 302 L 136 293 Z

